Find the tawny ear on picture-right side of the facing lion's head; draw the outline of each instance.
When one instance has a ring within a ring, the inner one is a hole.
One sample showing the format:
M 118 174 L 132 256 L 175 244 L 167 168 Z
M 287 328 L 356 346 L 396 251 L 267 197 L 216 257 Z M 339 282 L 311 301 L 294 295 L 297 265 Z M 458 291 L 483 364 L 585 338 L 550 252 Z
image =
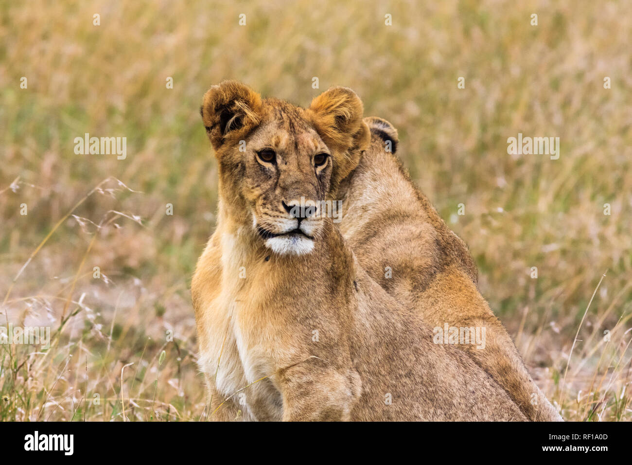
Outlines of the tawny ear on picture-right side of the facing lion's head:
M 334 150 L 334 182 L 344 179 L 358 166 L 360 154 L 371 135 L 362 121 L 362 100 L 347 87 L 332 87 L 312 100 L 308 109 L 322 140 Z

